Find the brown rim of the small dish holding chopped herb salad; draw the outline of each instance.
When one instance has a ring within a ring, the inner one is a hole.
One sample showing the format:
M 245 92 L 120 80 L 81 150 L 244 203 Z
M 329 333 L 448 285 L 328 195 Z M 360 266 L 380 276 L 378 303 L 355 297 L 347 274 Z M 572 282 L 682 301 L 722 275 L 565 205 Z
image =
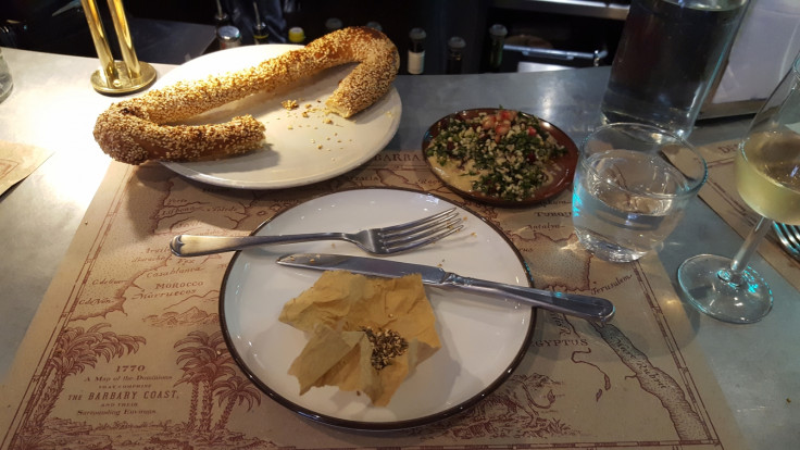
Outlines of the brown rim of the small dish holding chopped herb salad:
M 537 121 L 539 121 L 542 124 L 542 126 L 545 126 L 546 128 L 548 128 L 548 130 L 550 133 L 552 133 L 554 130 L 558 135 L 562 135 L 563 136 L 563 139 L 558 139 L 559 140 L 559 143 L 561 143 L 564 147 L 566 147 L 566 150 L 567 150 L 570 157 L 575 160 L 575 164 L 574 165 L 570 165 L 570 166 L 566 167 L 564 177 L 561 178 L 554 185 L 554 186 L 557 186 L 557 189 L 555 190 L 553 190 L 549 195 L 547 195 L 547 196 L 545 196 L 542 198 L 538 198 L 538 199 L 537 198 L 529 198 L 529 199 L 520 200 L 520 201 L 515 201 L 515 200 L 503 200 L 503 199 L 499 199 L 499 198 L 493 198 L 493 197 L 485 196 L 483 193 L 474 193 L 474 192 L 471 192 L 471 191 L 467 191 L 467 190 L 459 189 L 459 188 L 454 187 L 452 184 L 448 183 L 446 179 L 443 179 L 437 173 L 437 171 L 435 171 L 432 167 L 430 161 L 428 160 L 428 157 L 426 154 L 426 150 L 427 150 L 427 147 L 429 146 L 430 141 L 434 139 L 434 137 L 432 136 L 432 130 L 433 130 L 434 127 L 436 127 L 442 121 L 448 120 L 448 118 L 451 118 L 451 117 L 455 117 L 458 115 L 462 115 L 462 114 L 466 114 L 466 113 L 474 113 L 474 112 L 480 113 L 480 112 L 497 112 L 497 111 L 514 111 L 517 114 L 522 114 L 522 115 L 526 115 L 526 116 L 529 116 L 529 117 L 534 117 Z M 546 202 L 546 201 L 552 199 L 553 197 L 558 196 L 559 193 L 563 192 L 564 190 L 566 190 L 570 187 L 570 185 L 573 182 L 573 178 L 575 177 L 575 171 L 576 171 L 576 166 L 577 166 L 577 159 L 578 159 L 578 155 L 579 155 L 579 150 L 578 150 L 578 147 L 575 143 L 575 141 L 570 137 L 570 135 L 567 135 L 563 129 L 559 128 L 552 122 L 550 122 L 550 121 L 548 121 L 546 118 L 542 118 L 542 117 L 540 117 L 540 116 L 538 116 L 536 114 L 532 114 L 532 113 L 528 113 L 528 112 L 525 112 L 525 111 L 521 111 L 521 110 L 514 110 L 514 109 L 510 109 L 510 108 L 489 108 L 489 107 L 487 107 L 487 108 L 467 108 L 467 109 L 464 109 L 464 110 L 459 110 L 459 111 L 452 112 L 450 114 L 443 115 L 440 118 L 436 120 L 425 130 L 425 135 L 423 135 L 421 151 L 422 151 L 422 157 L 425 160 L 425 163 L 427 164 L 428 168 L 430 168 L 430 172 L 434 174 L 434 176 L 436 176 L 437 179 L 439 179 L 439 182 L 441 182 L 445 186 L 447 186 L 448 189 L 450 189 L 453 192 L 458 193 L 459 196 L 462 196 L 462 197 L 467 198 L 470 200 L 473 200 L 473 201 L 476 201 L 476 202 L 479 202 L 479 203 L 484 203 L 484 204 L 490 204 L 490 205 L 493 205 L 493 207 L 501 207 L 501 208 L 525 208 L 525 207 L 530 207 L 530 205 L 534 205 L 534 204 L 539 204 L 539 203 Z

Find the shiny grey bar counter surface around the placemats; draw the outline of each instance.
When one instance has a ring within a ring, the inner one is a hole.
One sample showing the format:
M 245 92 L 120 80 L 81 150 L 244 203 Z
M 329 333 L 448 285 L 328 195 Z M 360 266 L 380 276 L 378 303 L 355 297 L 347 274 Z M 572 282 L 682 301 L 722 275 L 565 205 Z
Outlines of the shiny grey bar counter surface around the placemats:
M 98 60 L 2 49 L 14 77 L 0 103 L 0 140 L 53 151 L 30 176 L 0 197 L 0 373 L 16 349 L 109 166 L 97 147 L 97 115 L 118 98 L 89 84 Z M 154 64 L 159 76 L 173 66 Z M 608 67 L 562 72 L 399 76 L 399 130 L 388 149 L 418 151 L 425 129 L 458 110 L 498 107 L 557 124 L 576 142 L 600 124 Z M 701 123 L 696 145 L 737 139 L 750 117 Z M 733 255 L 742 239 L 700 199 L 659 253 L 673 285 L 677 266 L 698 253 Z M 789 449 L 800 441 L 800 293 L 760 257 L 775 307 L 762 322 L 728 325 L 686 307 L 746 447 Z

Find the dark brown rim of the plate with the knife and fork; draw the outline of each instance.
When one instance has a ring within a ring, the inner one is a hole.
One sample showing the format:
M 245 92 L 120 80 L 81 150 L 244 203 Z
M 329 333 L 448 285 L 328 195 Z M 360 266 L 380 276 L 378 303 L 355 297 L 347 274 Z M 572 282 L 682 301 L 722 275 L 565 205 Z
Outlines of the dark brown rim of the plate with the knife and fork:
M 517 262 L 521 264 L 524 273 L 525 278 L 529 287 L 534 286 L 534 279 L 533 275 L 530 273 L 530 266 L 525 261 L 524 257 L 520 252 L 520 249 L 516 248 L 516 246 L 511 241 L 511 239 L 495 224 L 492 224 L 490 221 L 488 221 L 485 216 L 478 214 L 474 210 L 467 208 L 463 203 L 454 202 L 450 199 L 446 199 L 441 196 L 438 196 L 433 192 L 428 191 L 422 191 L 422 190 L 415 190 L 410 188 L 403 188 L 403 187 L 353 187 L 353 188 L 347 188 L 337 190 L 334 192 L 325 192 L 321 195 L 313 196 L 298 204 L 284 208 L 280 211 L 276 212 L 275 215 L 267 218 L 266 221 L 262 222 L 261 225 L 255 227 L 251 235 L 257 234 L 260 229 L 267 226 L 270 223 L 272 223 L 275 218 L 280 216 L 282 214 L 290 211 L 293 208 L 300 207 L 309 201 L 317 200 L 327 196 L 348 192 L 348 191 L 359 191 L 359 190 L 392 190 L 392 191 L 405 191 L 409 193 L 417 193 L 417 195 L 425 195 L 434 197 L 440 201 L 451 203 L 455 207 L 461 208 L 462 210 L 473 214 L 475 217 L 479 218 L 482 222 L 484 222 L 486 225 L 488 225 L 495 233 L 497 233 L 509 246 L 509 248 L 512 250 L 514 255 L 517 259 Z M 229 329 L 226 325 L 227 321 L 225 320 L 225 292 L 227 290 L 227 283 L 232 275 L 232 272 L 234 270 L 234 266 L 236 265 L 237 260 L 239 259 L 239 255 L 242 253 L 241 250 L 237 251 L 234 257 L 230 259 L 230 262 L 228 263 L 225 275 L 223 276 L 223 282 L 220 290 L 220 300 L 218 300 L 218 314 L 220 314 L 220 327 L 222 329 L 223 338 L 225 339 L 225 345 L 228 348 L 228 352 L 230 353 L 232 358 L 236 362 L 237 366 L 239 366 L 239 370 L 242 371 L 245 376 L 248 377 L 248 379 L 255 385 L 259 390 L 262 393 L 265 393 L 267 397 L 270 397 L 272 400 L 280 404 L 282 407 L 288 409 L 289 411 L 305 417 L 310 418 L 314 422 L 318 422 L 325 425 L 338 427 L 338 428 L 347 428 L 347 429 L 357 429 L 357 430 L 367 430 L 367 432 L 389 432 L 389 430 L 399 430 L 399 429 L 408 429 L 408 428 L 415 428 L 418 426 L 427 425 L 434 422 L 439 422 L 445 418 L 451 417 L 453 415 L 460 414 L 472 407 L 474 407 L 476 403 L 478 403 L 480 400 L 485 399 L 487 396 L 489 396 L 491 392 L 497 390 L 508 378 L 511 376 L 511 374 L 518 367 L 520 363 L 522 363 L 522 360 L 527 354 L 528 349 L 532 345 L 532 338 L 536 328 L 536 318 L 538 313 L 538 308 L 530 308 L 530 316 L 528 318 L 528 328 L 525 332 L 525 338 L 523 339 L 522 346 L 520 346 L 520 349 L 516 352 L 516 355 L 511 360 L 509 365 L 503 368 L 501 374 L 490 384 L 488 384 L 484 389 L 476 392 L 471 398 L 462 401 L 459 404 L 455 404 L 453 407 L 450 407 L 448 409 L 445 409 L 440 412 L 428 414 L 421 417 L 415 418 L 408 418 L 402 421 L 391 421 L 391 422 L 368 422 L 368 421 L 354 421 L 354 420 L 348 420 L 348 418 L 340 418 L 340 417 L 334 417 L 327 414 L 321 414 L 313 410 L 310 410 L 305 407 L 301 407 L 291 400 L 283 397 L 280 393 L 276 392 L 272 388 L 270 388 L 266 383 L 262 382 L 255 374 L 250 371 L 247 363 L 245 362 L 245 359 L 239 355 L 238 351 L 236 350 L 236 346 L 234 345 L 233 338 L 230 337 Z

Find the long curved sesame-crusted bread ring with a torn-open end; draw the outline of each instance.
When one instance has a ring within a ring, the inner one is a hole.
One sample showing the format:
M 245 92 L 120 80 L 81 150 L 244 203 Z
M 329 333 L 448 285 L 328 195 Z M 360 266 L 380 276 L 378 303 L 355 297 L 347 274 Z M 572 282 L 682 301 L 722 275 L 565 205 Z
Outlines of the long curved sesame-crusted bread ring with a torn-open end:
M 264 125 L 251 115 L 223 124 L 167 125 L 253 93 L 290 87 L 326 68 L 359 63 L 326 100 L 350 117 L 389 91 L 400 58 L 383 33 L 350 27 L 329 33 L 302 49 L 258 65 L 195 82 L 178 82 L 112 104 L 97 120 L 95 139 L 114 160 L 202 161 L 255 150 L 264 143 Z

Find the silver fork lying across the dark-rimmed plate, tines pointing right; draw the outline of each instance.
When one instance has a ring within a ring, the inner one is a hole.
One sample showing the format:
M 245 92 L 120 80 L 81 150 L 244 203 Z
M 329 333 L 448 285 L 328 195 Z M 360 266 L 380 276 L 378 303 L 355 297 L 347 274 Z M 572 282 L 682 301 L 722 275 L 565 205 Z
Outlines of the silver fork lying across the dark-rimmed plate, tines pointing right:
M 200 257 L 241 250 L 268 243 L 292 243 L 312 240 L 346 240 L 362 250 L 375 254 L 397 253 L 435 242 L 463 228 L 455 208 L 427 217 L 384 228 L 363 229 L 358 233 L 313 233 L 277 236 L 192 236 L 172 238 L 170 249 L 178 257 Z

